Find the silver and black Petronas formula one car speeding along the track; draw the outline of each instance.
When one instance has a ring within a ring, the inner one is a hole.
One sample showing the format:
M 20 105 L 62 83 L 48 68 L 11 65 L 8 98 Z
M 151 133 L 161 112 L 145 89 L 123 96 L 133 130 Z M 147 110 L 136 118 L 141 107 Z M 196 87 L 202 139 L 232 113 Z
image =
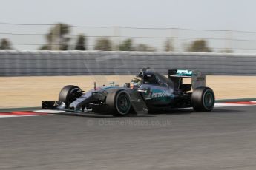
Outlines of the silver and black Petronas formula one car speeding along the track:
M 190 78 L 191 84 L 184 84 L 184 78 Z M 59 101 L 42 101 L 42 109 L 124 116 L 185 107 L 210 112 L 214 101 L 214 92 L 206 87 L 206 76 L 201 72 L 169 69 L 166 78 L 146 68 L 122 87 L 94 84 L 94 89 L 84 92 L 78 86 L 65 86 Z

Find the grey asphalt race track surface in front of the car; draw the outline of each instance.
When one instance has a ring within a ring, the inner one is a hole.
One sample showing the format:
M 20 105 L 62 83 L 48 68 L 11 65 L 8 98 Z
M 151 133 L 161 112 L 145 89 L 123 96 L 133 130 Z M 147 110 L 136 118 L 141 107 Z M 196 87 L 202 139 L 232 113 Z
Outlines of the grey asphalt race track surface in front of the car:
M 256 106 L 0 118 L 0 169 L 256 169 Z

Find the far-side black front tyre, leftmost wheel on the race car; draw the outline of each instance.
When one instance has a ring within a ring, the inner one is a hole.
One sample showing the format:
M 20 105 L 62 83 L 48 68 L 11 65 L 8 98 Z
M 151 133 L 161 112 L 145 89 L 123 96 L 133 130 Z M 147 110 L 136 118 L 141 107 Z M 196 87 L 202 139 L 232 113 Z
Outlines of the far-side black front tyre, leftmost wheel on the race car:
M 82 90 L 78 86 L 68 85 L 59 92 L 59 101 L 65 103 L 66 107 L 70 105 L 76 98 L 82 95 Z

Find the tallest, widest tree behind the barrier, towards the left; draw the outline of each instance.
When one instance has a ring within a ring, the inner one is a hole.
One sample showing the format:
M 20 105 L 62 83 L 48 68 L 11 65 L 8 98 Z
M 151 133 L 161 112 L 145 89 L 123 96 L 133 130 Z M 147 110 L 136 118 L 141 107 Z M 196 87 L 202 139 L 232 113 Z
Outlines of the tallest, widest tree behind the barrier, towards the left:
M 45 36 L 47 44 L 40 47 L 39 50 L 68 50 L 69 33 L 70 26 L 68 24 L 56 24 Z

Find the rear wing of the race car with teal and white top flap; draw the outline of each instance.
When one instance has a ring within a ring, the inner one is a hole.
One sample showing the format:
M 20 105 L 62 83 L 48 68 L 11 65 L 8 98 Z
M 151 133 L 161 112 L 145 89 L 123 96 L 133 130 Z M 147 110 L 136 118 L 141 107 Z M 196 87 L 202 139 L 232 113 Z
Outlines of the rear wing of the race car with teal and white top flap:
M 196 70 L 188 69 L 168 69 L 168 78 L 177 83 L 178 86 L 183 84 L 183 78 L 191 78 L 192 89 L 200 86 L 206 86 L 206 75 Z

